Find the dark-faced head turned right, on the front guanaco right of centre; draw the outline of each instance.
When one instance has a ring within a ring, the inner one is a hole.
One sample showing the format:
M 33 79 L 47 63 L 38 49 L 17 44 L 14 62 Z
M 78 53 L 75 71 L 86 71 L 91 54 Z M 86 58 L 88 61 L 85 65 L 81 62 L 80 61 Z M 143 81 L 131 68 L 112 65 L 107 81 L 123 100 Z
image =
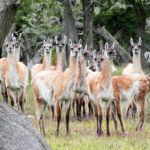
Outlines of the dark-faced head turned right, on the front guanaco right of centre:
M 112 44 L 111 47 L 108 46 L 108 43 L 105 44 L 105 52 L 104 56 L 106 56 L 109 60 L 116 59 L 117 53 L 115 48 L 115 42 Z

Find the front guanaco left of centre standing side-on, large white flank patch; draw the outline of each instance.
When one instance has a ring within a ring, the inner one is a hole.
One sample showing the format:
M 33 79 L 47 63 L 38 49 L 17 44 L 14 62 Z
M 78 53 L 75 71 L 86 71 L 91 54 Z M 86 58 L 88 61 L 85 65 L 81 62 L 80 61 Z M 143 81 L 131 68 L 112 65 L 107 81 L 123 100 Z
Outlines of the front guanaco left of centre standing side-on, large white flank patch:
M 69 116 L 71 109 L 71 101 L 75 92 L 75 81 L 78 67 L 78 53 L 81 44 L 70 45 L 70 61 L 69 68 L 65 72 L 60 71 L 42 71 L 33 79 L 32 88 L 34 91 L 37 104 L 37 120 L 40 127 L 41 135 L 45 135 L 44 131 L 44 110 L 46 105 L 56 104 L 57 129 L 56 135 L 59 135 L 59 126 L 61 121 L 61 102 L 65 100 L 66 108 L 66 134 L 69 134 Z

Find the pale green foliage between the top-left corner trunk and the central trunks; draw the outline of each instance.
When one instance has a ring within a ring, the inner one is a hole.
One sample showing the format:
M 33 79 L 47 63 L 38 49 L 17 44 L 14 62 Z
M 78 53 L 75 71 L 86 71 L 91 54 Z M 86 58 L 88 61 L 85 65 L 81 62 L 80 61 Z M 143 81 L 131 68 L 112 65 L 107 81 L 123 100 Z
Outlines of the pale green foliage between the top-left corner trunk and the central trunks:
M 57 0 L 23 0 L 15 22 L 23 34 L 24 53 L 33 57 L 42 40 L 60 34 L 62 6 Z

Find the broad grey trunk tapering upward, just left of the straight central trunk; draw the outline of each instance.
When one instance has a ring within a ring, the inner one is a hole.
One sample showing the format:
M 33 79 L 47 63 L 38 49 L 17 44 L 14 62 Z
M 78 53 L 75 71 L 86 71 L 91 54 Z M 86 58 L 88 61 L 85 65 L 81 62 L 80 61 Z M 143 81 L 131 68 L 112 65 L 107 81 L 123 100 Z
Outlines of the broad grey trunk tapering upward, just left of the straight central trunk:
M 63 0 L 64 14 L 62 21 L 62 34 L 66 35 L 68 39 L 71 39 L 74 42 L 78 41 L 77 29 L 75 26 L 75 21 L 73 18 L 73 12 L 69 0 Z M 66 47 L 66 59 L 64 67 L 66 68 L 69 63 L 69 50 L 68 46 Z

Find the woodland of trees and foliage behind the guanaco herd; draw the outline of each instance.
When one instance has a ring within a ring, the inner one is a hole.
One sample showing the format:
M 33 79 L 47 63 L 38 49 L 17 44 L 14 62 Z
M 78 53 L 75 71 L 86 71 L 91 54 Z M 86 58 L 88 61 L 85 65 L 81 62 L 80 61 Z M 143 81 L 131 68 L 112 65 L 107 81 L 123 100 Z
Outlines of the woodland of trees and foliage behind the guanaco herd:
M 115 41 L 119 54 L 115 63 L 120 65 L 131 61 L 130 37 L 135 42 L 142 37 L 142 55 L 150 51 L 150 1 L 22 0 L 12 32 L 22 33 L 21 61 L 29 68 L 41 61 L 42 53 L 38 51 L 43 40 L 55 35 L 66 35 L 74 42 L 81 38 L 83 45 L 97 52 L 103 49 L 104 42 Z M 3 46 L 1 56 L 5 55 Z M 53 56 L 55 59 L 55 48 Z M 146 66 L 144 57 L 142 62 Z

